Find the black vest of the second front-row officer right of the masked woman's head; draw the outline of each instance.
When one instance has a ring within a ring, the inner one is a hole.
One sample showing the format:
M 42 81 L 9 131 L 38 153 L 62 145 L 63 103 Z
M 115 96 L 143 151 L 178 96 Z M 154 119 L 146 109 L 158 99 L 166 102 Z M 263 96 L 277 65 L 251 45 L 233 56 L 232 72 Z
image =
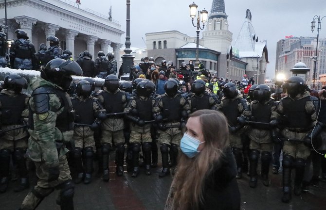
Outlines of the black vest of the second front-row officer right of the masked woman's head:
M 252 106 L 252 116 L 255 122 L 269 123 L 271 121 L 271 109 L 275 106 L 275 101 L 270 100 L 267 104 L 254 103 Z M 255 124 L 255 129 L 269 129 L 269 125 Z

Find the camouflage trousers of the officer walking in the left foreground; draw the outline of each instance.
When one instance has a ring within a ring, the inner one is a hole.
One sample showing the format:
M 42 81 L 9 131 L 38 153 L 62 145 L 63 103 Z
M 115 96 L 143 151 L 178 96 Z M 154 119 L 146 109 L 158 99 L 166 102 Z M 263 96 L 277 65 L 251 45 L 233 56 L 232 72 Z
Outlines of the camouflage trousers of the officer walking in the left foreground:
M 36 176 L 38 181 L 33 190 L 28 193 L 23 200 L 20 209 L 21 210 L 34 210 L 44 197 L 51 194 L 54 189 L 61 189 L 62 184 L 67 180 L 72 179 L 70 176 L 69 165 L 66 156 L 59 157 L 59 170 L 60 175 L 57 180 L 49 182 L 49 173 L 47 166 L 44 162 L 34 162 L 36 165 Z M 57 201 L 59 201 L 60 193 L 58 193 Z

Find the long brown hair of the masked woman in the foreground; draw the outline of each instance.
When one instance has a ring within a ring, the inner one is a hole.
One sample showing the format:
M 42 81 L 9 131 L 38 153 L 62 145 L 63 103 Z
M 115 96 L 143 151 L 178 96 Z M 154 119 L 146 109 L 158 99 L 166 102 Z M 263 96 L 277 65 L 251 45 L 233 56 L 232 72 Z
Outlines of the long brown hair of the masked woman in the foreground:
M 205 146 L 194 158 L 181 153 L 175 176 L 173 209 L 196 210 L 204 203 L 205 179 L 213 172 L 223 148 L 228 145 L 229 131 L 225 116 L 214 110 L 199 110 L 190 117 L 199 116 Z

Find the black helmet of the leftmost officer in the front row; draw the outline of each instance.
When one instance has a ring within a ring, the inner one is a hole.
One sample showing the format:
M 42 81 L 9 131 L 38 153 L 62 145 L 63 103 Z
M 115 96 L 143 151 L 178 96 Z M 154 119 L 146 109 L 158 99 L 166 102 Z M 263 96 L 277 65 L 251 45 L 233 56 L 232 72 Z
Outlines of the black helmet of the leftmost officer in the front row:
M 4 78 L 3 87 L 20 93 L 21 89 L 27 89 L 27 80 L 18 74 L 10 74 Z

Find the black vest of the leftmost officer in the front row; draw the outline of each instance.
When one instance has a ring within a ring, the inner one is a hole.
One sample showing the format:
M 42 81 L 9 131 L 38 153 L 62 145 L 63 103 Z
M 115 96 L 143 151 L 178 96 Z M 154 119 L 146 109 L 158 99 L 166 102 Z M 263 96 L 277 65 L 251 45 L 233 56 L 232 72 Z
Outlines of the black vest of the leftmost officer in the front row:
M 0 94 L 1 125 L 21 124 L 21 113 L 26 106 L 25 98 L 24 94 L 18 94 L 16 97 Z

